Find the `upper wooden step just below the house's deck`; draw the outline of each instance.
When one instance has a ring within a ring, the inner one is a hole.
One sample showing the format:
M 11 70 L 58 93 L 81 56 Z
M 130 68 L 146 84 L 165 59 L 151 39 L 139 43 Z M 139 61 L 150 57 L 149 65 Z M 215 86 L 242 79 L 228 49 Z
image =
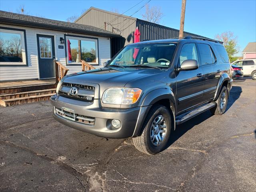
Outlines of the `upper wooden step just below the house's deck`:
M 22 98 L 22 97 L 29 97 L 29 96 L 36 96 L 36 95 L 45 95 L 56 93 L 56 89 L 45 89 L 45 90 L 36 90 L 36 91 L 28 91 L 28 92 L 20 92 L 20 93 L 11 93 L 11 94 L 1 94 L 0 100 L 3 99 L 14 99 L 14 98 Z

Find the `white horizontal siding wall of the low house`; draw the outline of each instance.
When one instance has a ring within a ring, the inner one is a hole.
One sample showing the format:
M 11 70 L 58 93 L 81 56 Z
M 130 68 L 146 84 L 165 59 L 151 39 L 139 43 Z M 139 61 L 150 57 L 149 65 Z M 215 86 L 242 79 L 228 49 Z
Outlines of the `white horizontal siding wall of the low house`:
M 110 59 L 110 38 L 3 24 L 0 26 L 26 30 L 26 44 L 28 54 L 28 66 L 0 66 L 0 81 L 38 79 L 38 48 L 36 34 L 54 36 L 55 58 L 64 66 L 66 66 L 65 46 L 64 44 L 60 43 L 60 37 L 64 38 L 64 34 L 98 38 L 99 65 L 94 67 L 103 67 L 105 62 Z M 64 49 L 59 49 L 58 45 L 63 45 Z M 82 71 L 81 65 L 71 66 L 69 64 L 66 67 L 69 69 L 68 74 Z

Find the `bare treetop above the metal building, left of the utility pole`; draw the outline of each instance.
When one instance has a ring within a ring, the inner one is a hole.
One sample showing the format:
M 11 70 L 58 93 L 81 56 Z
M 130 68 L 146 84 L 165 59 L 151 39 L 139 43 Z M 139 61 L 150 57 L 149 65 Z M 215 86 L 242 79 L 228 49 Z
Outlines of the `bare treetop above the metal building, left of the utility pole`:
M 164 16 L 162 13 L 161 7 L 159 6 L 150 6 L 146 4 L 146 11 L 145 14 L 142 14 L 142 18 L 144 18 L 146 21 L 159 24 L 161 18 Z

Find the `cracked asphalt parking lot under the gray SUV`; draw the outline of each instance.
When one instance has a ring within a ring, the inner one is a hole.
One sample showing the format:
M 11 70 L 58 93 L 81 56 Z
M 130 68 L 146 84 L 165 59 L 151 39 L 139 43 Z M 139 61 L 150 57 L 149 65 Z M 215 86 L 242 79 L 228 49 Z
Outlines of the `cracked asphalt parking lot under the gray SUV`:
M 256 191 L 256 81 L 234 80 L 222 116 L 176 127 L 170 146 L 142 154 L 52 118 L 50 102 L 0 108 L 0 191 Z

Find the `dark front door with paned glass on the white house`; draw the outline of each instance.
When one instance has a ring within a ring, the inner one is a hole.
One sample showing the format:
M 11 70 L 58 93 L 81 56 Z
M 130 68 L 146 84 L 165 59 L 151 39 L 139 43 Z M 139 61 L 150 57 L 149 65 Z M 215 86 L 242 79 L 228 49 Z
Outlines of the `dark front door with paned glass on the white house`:
M 55 58 L 54 36 L 37 34 L 38 62 L 40 79 L 54 78 Z

